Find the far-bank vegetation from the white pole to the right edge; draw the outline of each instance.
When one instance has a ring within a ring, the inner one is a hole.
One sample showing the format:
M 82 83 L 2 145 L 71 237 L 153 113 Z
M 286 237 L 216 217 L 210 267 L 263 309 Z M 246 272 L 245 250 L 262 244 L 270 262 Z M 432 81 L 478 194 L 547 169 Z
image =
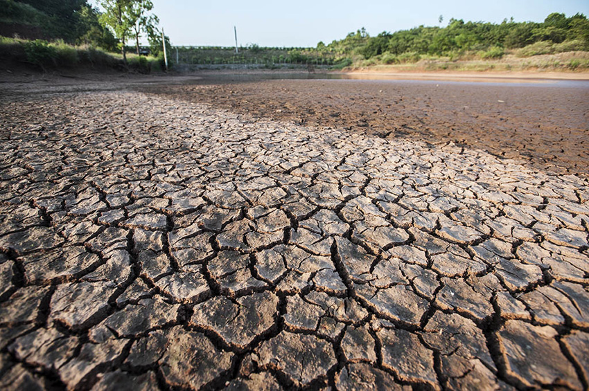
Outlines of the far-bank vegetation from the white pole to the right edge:
M 440 24 L 442 20 L 440 17 Z M 548 15 L 542 23 L 518 23 L 513 19 L 501 24 L 465 23 L 450 19 L 446 27 L 419 26 L 380 33 L 376 37 L 362 28 L 328 45 L 319 42 L 316 48 L 263 48 L 252 44 L 240 48 L 238 55 L 234 48 L 179 47 L 177 51 L 182 64 L 313 64 L 334 69 L 380 65 L 421 70 L 545 69 L 543 62 L 528 65 L 509 59 L 589 51 L 589 20 L 581 14 L 566 17 L 559 13 Z M 495 64 L 500 61 L 505 64 Z M 550 64 L 553 69 L 587 68 L 583 59 L 572 63 L 554 60 Z

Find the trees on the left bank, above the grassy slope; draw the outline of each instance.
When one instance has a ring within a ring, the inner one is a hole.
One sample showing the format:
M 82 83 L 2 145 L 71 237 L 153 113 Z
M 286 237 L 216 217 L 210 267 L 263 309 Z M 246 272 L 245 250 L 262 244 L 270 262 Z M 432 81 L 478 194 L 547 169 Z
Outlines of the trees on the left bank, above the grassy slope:
M 100 0 L 100 6 L 87 0 L 0 0 L 0 19 L 35 24 L 48 39 L 121 51 L 125 62 L 128 44 L 139 55 L 139 41 L 147 37 L 150 54 L 159 55 L 161 30 L 151 0 Z

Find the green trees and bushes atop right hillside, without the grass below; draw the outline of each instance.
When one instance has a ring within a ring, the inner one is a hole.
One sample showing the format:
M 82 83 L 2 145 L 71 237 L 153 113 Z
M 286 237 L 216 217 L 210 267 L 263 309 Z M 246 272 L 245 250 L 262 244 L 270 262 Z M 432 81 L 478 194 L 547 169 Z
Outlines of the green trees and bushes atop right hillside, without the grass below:
M 443 17 L 439 18 L 439 21 Z M 371 37 L 364 28 L 349 33 L 344 39 L 317 50 L 339 55 L 362 55 L 370 59 L 378 55 L 451 55 L 467 51 L 489 51 L 491 48 L 523 48 L 537 42 L 571 43 L 567 47 L 589 50 L 589 20 L 583 14 L 566 17 L 554 12 L 541 22 L 516 22 L 504 19 L 501 24 L 450 19 L 446 27 L 419 26 L 396 33 L 383 32 Z

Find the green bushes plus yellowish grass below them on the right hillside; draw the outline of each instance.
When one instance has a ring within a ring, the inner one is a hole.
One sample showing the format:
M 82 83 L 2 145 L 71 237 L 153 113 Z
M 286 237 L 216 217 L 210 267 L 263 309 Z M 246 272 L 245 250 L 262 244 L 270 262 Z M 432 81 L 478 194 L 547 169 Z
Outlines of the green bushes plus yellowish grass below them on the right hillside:
M 582 14 L 566 17 L 560 13 L 548 15 L 543 23 L 518 23 L 513 18 L 501 24 L 450 19 L 443 28 L 419 26 L 376 37 L 362 28 L 328 45 L 319 42 L 316 50 L 349 57 L 363 66 L 414 63 L 428 57 L 498 60 L 507 53 L 529 57 L 589 51 L 589 20 Z

